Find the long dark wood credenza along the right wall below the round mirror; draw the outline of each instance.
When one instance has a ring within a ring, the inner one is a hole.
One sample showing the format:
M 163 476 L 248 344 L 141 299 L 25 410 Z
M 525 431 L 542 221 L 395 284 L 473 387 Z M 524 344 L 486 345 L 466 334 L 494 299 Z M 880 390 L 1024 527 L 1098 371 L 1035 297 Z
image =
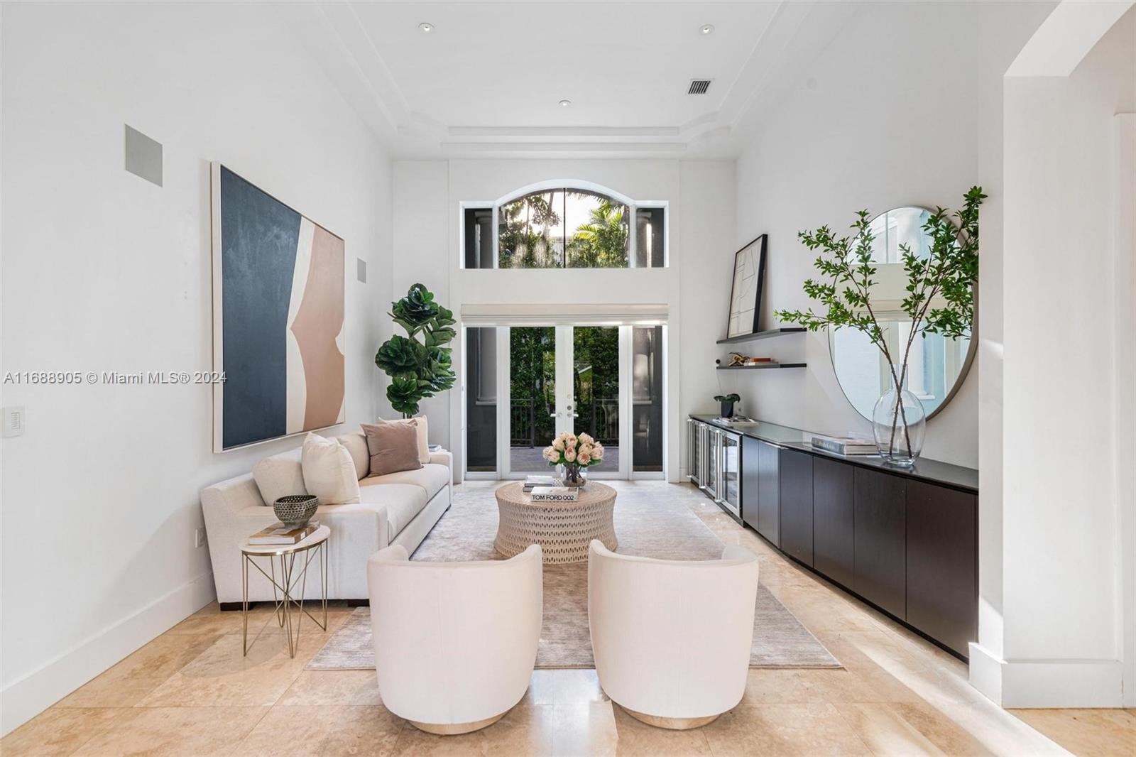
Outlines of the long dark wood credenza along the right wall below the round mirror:
M 922 458 L 896 468 L 813 449 L 797 429 L 691 421 L 741 436 L 730 517 L 967 659 L 978 635 L 977 471 Z

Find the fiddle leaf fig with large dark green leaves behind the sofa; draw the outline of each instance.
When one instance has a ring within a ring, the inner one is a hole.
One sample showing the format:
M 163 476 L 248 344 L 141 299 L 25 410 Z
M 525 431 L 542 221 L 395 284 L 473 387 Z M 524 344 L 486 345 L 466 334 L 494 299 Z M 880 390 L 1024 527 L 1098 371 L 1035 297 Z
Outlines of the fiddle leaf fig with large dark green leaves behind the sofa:
M 386 399 L 404 417 L 418 414 L 418 404 L 453 388 L 451 349 L 458 335 L 453 313 L 434 301 L 423 284 L 415 284 L 401 300 L 391 303 L 391 319 L 407 335 L 394 334 L 375 353 L 375 365 L 391 377 Z M 419 340 L 419 334 L 421 339 Z

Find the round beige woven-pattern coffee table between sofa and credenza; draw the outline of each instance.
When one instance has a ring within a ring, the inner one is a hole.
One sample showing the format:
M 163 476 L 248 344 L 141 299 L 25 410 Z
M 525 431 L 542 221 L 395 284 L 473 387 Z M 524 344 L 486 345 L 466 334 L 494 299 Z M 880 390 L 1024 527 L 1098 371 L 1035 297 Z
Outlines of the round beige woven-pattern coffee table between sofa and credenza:
M 545 563 L 583 563 L 593 539 L 608 549 L 618 544 L 611 519 L 616 490 L 611 486 L 592 481 L 575 502 L 545 504 L 534 502 L 518 481 L 499 488 L 496 499 L 501 517 L 493 547 L 506 557 L 540 544 Z

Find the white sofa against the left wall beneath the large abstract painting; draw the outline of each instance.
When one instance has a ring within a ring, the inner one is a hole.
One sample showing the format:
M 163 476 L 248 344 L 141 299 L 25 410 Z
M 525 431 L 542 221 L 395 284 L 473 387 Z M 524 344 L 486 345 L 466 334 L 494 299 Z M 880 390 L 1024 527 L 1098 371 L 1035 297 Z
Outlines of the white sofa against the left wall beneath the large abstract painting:
M 359 502 L 320 505 L 312 519 L 331 527 L 327 542 L 327 598 L 367 599 L 367 559 L 385 547 L 401 544 L 412 554 L 442 514 L 453 494 L 453 457 L 433 452 L 418 471 L 370 476 L 367 440 L 361 431 L 337 439 L 351 452 L 359 475 Z M 274 459 L 300 465 L 300 450 L 274 455 Z M 241 544 L 250 534 L 277 521 L 252 474 L 222 481 L 201 490 L 209 557 L 212 560 L 217 601 L 225 609 L 241 602 Z M 298 558 L 299 559 L 299 558 Z M 267 569 L 267 563 L 264 565 Z M 296 565 L 299 572 L 300 566 Z M 312 561 L 306 596 L 319 597 L 319 569 Z M 294 592 L 294 596 L 299 592 Z M 273 599 L 268 579 L 249 573 L 249 601 Z

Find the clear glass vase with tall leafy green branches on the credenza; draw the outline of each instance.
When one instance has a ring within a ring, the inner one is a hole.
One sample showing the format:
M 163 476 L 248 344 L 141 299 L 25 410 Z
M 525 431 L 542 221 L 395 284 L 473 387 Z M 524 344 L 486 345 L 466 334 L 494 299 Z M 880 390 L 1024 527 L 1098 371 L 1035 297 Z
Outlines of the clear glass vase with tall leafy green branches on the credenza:
M 975 317 L 975 285 L 978 282 L 978 207 L 986 196 L 980 186 L 966 193 L 962 209 L 955 213 L 958 227 L 949 211 L 936 208 L 922 225 L 928 239 L 920 253 L 900 244 L 907 273 L 907 294 L 900 309 L 908 319 L 900 341 L 901 356 L 893 356 L 884 328 L 872 309 L 876 266 L 872 258 L 875 234 L 867 210 L 857 214 L 854 233 L 836 238 L 828 226 L 797 236 L 810 250 L 820 250 L 815 265 L 820 281 L 804 282 L 804 292 L 824 306 L 820 314 L 809 310 L 782 310 L 776 315 L 786 323 L 799 323 L 809 331 L 821 326 L 844 326 L 861 331 L 879 348 L 891 365 L 889 388 L 872 410 L 872 427 L 880 456 L 888 463 L 910 467 L 922 450 L 926 414 L 922 404 L 907 391 L 908 357 L 917 335 L 942 334 L 958 339 L 970 335 Z M 896 360 L 899 357 L 901 359 Z

